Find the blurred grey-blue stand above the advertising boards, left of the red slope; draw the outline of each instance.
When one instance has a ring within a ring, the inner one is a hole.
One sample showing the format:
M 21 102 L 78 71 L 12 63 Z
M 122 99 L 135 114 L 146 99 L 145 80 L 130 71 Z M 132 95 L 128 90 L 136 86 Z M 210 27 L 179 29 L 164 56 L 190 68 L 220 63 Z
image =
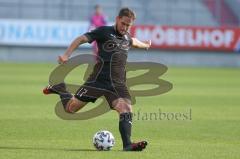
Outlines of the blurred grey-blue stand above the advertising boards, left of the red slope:
M 87 20 L 98 3 L 109 21 L 120 7 L 128 6 L 136 11 L 138 24 L 217 25 L 201 0 L 0 0 L 0 18 Z

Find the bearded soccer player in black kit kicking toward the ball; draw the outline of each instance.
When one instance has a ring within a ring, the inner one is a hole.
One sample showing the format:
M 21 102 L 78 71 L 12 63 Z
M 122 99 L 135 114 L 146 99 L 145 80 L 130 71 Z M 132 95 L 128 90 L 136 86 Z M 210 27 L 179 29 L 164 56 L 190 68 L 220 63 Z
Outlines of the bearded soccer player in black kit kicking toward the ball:
M 147 146 L 146 141 L 133 143 L 130 139 L 132 106 L 126 86 L 127 53 L 131 47 L 148 49 L 151 46 L 151 41 L 141 42 L 128 33 L 135 18 L 132 10 L 122 8 L 114 26 L 102 26 L 77 37 L 66 52 L 59 56 L 59 63 L 65 63 L 79 45 L 94 40 L 97 42 L 99 60 L 92 74 L 74 95 L 66 91 L 64 83 L 49 85 L 43 90 L 44 94 L 58 94 L 68 113 L 75 113 L 88 102 L 95 102 L 100 96 L 105 96 L 109 106 L 119 113 L 119 131 L 124 151 L 142 151 Z

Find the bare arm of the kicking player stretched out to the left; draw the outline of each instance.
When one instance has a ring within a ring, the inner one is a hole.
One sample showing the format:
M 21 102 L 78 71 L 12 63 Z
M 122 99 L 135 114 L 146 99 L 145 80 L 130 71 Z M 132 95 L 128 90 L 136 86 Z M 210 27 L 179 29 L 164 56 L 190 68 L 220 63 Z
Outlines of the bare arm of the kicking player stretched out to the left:
M 72 55 L 73 51 L 78 48 L 79 45 L 87 43 L 89 40 L 85 35 L 77 37 L 67 48 L 63 55 L 58 56 L 58 63 L 65 63 L 69 57 Z

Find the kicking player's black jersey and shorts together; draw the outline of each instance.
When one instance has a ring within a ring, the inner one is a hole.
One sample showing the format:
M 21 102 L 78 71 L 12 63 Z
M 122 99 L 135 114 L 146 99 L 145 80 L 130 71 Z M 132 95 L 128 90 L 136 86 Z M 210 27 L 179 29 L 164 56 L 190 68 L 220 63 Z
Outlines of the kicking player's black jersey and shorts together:
M 84 35 L 89 43 L 96 40 L 100 60 L 75 97 L 84 102 L 95 102 L 100 96 L 105 96 L 111 108 L 115 99 L 131 101 L 125 71 L 127 53 L 132 45 L 129 33 L 120 35 L 114 26 L 103 26 Z

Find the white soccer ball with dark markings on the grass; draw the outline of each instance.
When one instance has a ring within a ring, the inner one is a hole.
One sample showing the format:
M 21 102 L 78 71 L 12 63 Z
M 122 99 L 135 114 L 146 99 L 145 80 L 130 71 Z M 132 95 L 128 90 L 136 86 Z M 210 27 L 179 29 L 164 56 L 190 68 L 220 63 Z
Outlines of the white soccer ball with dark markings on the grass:
M 109 131 L 106 131 L 106 130 L 98 131 L 93 136 L 93 145 L 97 150 L 100 150 L 100 151 L 111 150 L 114 143 L 115 143 L 114 136 Z

